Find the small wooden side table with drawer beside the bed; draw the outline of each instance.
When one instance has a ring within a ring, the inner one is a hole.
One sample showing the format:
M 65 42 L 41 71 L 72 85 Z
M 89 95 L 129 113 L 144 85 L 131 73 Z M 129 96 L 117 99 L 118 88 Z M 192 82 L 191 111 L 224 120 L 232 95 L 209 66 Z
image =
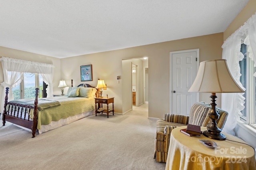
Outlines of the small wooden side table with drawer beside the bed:
M 108 110 L 108 104 L 112 103 L 112 110 Z M 97 107 L 98 104 L 98 107 Z M 102 109 L 100 110 L 100 108 L 102 108 L 102 104 L 107 104 L 107 109 Z M 114 98 L 107 98 L 107 97 L 103 97 L 103 98 L 95 98 L 95 116 L 97 116 L 97 113 L 110 113 L 112 111 L 113 115 L 114 115 Z

